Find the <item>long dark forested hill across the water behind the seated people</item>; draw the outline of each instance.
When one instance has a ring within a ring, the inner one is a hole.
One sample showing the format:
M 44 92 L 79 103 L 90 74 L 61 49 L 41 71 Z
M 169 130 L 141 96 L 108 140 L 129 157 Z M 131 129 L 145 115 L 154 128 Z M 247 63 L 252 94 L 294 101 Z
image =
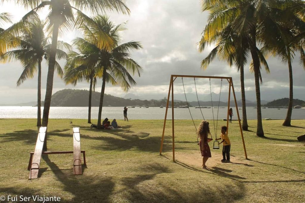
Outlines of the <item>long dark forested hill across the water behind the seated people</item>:
M 92 92 L 91 106 L 98 107 L 100 92 Z M 77 90 L 77 89 L 63 89 L 52 95 L 51 106 L 59 107 L 88 107 L 88 90 Z M 186 105 L 183 101 L 175 101 L 175 106 Z M 124 107 L 124 106 L 141 106 L 141 107 L 160 107 L 166 106 L 166 99 L 163 100 L 131 100 L 124 99 L 109 94 L 104 95 L 103 101 L 104 107 Z

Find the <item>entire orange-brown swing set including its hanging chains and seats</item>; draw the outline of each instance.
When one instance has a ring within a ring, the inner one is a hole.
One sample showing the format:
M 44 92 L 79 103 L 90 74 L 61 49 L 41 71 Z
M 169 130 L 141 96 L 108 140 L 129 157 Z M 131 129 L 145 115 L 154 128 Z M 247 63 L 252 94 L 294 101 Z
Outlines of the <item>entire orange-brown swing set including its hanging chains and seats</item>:
M 236 101 L 236 96 L 235 96 L 235 91 L 234 91 L 232 77 L 200 76 L 200 75 L 171 75 L 170 76 L 170 86 L 169 86 L 168 96 L 167 96 L 167 103 L 166 103 L 166 110 L 165 110 L 165 117 L 164 117 L 164 124 L 163 124 L 163 132 L 162 132 L 161 146 L 160 146 L 160 155 L 162 155 L 162 147 L 163 147 L 163 141 L 164 141 L 164 132 L 165 132 L 166 119 L 167 119 L 167 110 L 168 110 L 168 106 L 169 106 L 170 93 L 171 93 L 172 149 L 173 149 L 173 161 L 175 162 L 174 81 L 178 77 L 180 77 L 182 79 L 182 85 L 183 85 L 183 89 L 184 89 L 184 94 L 185 94 L 185 88 L 184 88 L 183 78 L 194 78 L 198 104 L 199 104 L 199 99 L 198 99 L 197 88 L 196 88 L 196 78 L 221 79 L 221 86 L 222 86 L 222 81 L 223 80 L 227 80 L 228 81 L 228 83 L 229 83 L 229 96 L 228 96 L 228 113 L 227 113 L 227 132 L 226 132 L 226 134 L 228 135 L 228 129 L 229 129 L 229 109 L 230 109 L 230 96 L 231 96 L 231 88 L 232 88 L 232 92 L 233 92 L 233 96 L 234 96 L 234 101 L 235 101 L 236 112 L 237 112 L 237 117 L 238 117 L 238 122 L 239 122 L 240 134 L 241 134 L 241 137 L 242 137 L 242 144 L 243 144 L 243 148 L 244 148 L 244 152 L 245 152 L 245 158 L 248 159 L 247 152 L 246 152 L 245 141 L 244 141 L 244 137 L 243 137 L 243 134 L 242 134 L 242 125 L 241 125 L 240 118 L 239 118 L 239 112 L 238 112 L 237 101 Z M 210 81 L 210 93 L 211 93 L 211 103 L 212 103 L 212 112 L 213 112 L 211 81 Z M 220 87 L 220 94 L 221 94 L 221 87 Z M 186 98 L 186 94 L 185 94 L 185 100 L 186 100 L 187 107 L 188 107 L 188 110 L 190 112 L 193 124 L 195 126 L 195 129 L 197 130 L 195 122 L 194 122 L 192 114 L 191 114 L 191 111 L 190 111 L 189 106 L 188 106 L 188 101 L 187 101 L 187 98 Z M 220 102 L 220 95 L 219 95 L 219 101 L 218 101 L 218 110 L 219 110 L 219 102 Z M 201 111 L 200 104 L 199 104 L 199 109 Z M 216 120 L 216 122 L 218 121 L 218 110 L 217 110 L 217 120 Z M 201 111 L 201 114 L 203 116 L 202 111 Z M 204 116 L 203 116 L 203 120 L 205 120 Z M 213 112 L 213 122 L 214 122 L 214 112 Z M 214 122 L 214 128 L 215 128 L 215 122 Z M 217 129 L 217 124 L 216 124 L 216 128 L 215 129 Z M 217 136 L 217 131 L 215 131 L 215 136 Z M 197 138 L 197 142 L 198 142 L 198 138 Z M 219 149 L 219 142 L 217 140 L 215 140 L 214 143 L 213 143 L 213 149 Z

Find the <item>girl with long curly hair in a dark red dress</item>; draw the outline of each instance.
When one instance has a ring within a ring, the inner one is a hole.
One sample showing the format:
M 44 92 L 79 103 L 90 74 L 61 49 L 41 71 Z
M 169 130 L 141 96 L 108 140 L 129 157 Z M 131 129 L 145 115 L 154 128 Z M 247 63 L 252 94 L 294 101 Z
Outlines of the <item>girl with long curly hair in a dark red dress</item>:
M 198 138 L 200 137 L 199 146 L 200 146 L 201 156 L 203 156 L 203 158 L 202 158 L 202 168 L 203 169 L 207 169 L 206 161 L 210 157 L 212 157 L 208 142 L 210 142 L 213 139 L 208 138 L 208 135 L 211 135 L 210 128 L 209 128 L 209 122 L 202 121 L 197 130 L 197 136 L 198 136 Z

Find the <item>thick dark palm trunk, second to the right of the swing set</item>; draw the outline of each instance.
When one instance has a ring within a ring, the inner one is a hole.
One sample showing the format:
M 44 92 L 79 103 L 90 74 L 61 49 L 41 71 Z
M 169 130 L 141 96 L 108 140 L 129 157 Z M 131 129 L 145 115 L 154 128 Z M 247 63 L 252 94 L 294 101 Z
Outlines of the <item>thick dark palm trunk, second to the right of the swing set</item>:
M 263 123 L 262 123 L 262 111 L 260 105 L 260 60 L 257 55 L 257 47 L 256 47 L 256 30 L 253 29 L 251 32 L 251 56 L 253 60 L 253 68 L 254 68 L 254 78 L 255 78 L 255 92 L 256 92 L 256 103 L 257 103 L 257 130 L 256 135 L 259 137 L 264 137 Z

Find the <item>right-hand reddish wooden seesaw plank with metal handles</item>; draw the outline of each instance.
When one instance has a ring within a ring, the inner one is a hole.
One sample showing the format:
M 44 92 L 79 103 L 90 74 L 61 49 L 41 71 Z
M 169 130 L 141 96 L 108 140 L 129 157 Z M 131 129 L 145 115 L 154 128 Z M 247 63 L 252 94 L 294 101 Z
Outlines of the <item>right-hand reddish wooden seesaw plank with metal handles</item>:
M 79 128 L 73 128 L 73 174 L 81 175 L 81 135 Z

